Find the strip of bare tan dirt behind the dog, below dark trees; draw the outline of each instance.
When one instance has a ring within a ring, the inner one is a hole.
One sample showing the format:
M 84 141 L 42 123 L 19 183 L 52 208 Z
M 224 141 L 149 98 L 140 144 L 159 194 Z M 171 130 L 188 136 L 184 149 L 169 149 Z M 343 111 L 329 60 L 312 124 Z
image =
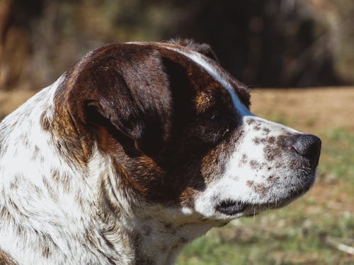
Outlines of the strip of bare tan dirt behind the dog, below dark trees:
M 31 91 L 0 91 L 0 119 L 12 112 Z M 296 129 L 320 132 L 344 126 L 354 131 L 354 87 L 312 89 L 255 89 L 251 110 L 259 116 L 273 117 Z

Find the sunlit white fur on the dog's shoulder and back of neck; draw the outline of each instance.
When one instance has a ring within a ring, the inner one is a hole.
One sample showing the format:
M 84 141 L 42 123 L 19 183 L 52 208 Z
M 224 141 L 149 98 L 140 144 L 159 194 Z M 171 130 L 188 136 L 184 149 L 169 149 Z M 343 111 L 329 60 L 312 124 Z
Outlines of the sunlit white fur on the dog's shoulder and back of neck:
M 107 259 L 100 252 L 108 248 L 99 239 L 97 249 L 82 244 L 87 241 L 85 230 L 90 230 L 93 238 L 98 234 L 100 223 L 92 215 L 97 211 L 97 194 L 85 184 L 84 172 L 68 165 L 59 155 L 55 139 L 40 126 L 42 113 L 52 114 L 53 94 L 60 81 L 41 90 L 0 124 L 0 211 L 6 209 L 10 215 L 6 222 L 0 220 L 4 222 L 0 223 L 0 249 L 19 264 L 105 264 Z M 52 170 L 67 173 L 69 191 L 53 182 Z M 91 176 L 88 181 L 94 187 L 98 176 Z M 76 203 L 78 194 L 83 206 Z M 21 235 L 14 232 L 18 229 Z M 47 259 L 41 251 L 45 245 L 51 253 Z

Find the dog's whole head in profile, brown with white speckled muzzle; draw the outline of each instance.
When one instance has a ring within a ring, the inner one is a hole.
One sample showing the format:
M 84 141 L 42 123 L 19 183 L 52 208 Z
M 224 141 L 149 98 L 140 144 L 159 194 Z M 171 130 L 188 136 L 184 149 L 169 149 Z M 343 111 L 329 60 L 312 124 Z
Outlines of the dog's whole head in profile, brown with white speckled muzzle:
M 320 140 L 254 116 L 246 86 L 205 45 L 102 47 L 67 72 L 55 102 L 67 155 L 108 160 L 101 189 L 113 211 L 224 222 L 314 182 Z

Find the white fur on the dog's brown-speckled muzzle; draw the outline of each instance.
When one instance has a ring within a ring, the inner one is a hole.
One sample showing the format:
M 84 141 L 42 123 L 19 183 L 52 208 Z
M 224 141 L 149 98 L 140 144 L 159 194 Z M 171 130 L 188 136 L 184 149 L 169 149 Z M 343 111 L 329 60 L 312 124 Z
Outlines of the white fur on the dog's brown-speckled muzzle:
M 301 185 L 301 183 L 297 182 L 296 177 L 294 177 L 299 175 L 299 170 L 291 170 L 287 167 L 287 163 L 289 162 L 287 155 L 283 154 L 273 161 L 267 161 L 265 160 L 263 151 L 265 145 L 263 143 L 256 144 L 253 142 L 253 139 L 256 138 L 264 139 L 263 129 L 269 129 L 270 133 L 268 136 L 273 136 L 274 138 L 283 134 L 298 134 L 299 132 L 287 126 L 282 126 L 281 124 L 269 122 L 258 117 L 252 117 L 252 119 L 256 121 L 256 126 L 260 126 L 260 129 L 256 131 L 252 128 L 255 124 L 249 125 L 247 123 L 250 119 L 249 117 L 244 117 L 243 119 L 244 136 L 242 136 L 237 142 L 237 145 L 234 146 L 234 152 L 225 165 L 224 174 L 210 183 L 205 192 L 202 192 L 196 200 L 196 211 L 209 218 L 230 218 L 229 216 L 224 216 L 215 211 L 215 206 L 219 201 L 232 199 L 253 205 L 276 203 L 276 201 L 281 201 L 281 199 L 285 198 L 292 189 Z M 247 155 L 247 163 L 240 164 L 242 155 L 244 154 Z M 252 168 L 250 165 L 251 160 L 260 165 L 263 164 L 262 168 L 257 170 Z M 275 168 L 276 163 L 280 163 L 282 166 Z M 268 170 L 268 168 L 270 168 L 270 170 Z M 266 180 L 270 176 L 279 177 L 279 184 L 273 184 L 273 187 L 271 187 L 272 184 L 268 183 Z M 269 188 L 268 192 L 264 194 L 255 192 L 252 187 L 249 187 L 249 181 L 254 182 L 256 185 L 263 185 Z M 289 187 L 285 188 L 286 186 Z M 241 212 L 231 218 L 233 219 L 247 214 L 249 214 L 249 212 Z

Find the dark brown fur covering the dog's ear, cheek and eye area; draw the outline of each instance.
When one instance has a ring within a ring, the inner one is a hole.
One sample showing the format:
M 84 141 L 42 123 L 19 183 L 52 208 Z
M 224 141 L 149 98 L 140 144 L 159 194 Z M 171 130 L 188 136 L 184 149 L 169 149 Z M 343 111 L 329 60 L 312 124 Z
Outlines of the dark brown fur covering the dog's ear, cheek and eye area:
M 248 107 L 246 88 L 224 76 Z M 81 167 L 97 141 L 123 193 L 192 207 L 193 196 L 222 174 L 237 119 L 227 90 L 187 57 L 164 45 L 118 44 L 96 49 L 67 71 L 54 117 L 44 113 L 40 123 L 62 156 Z M 59 172 L 52 178 L 69 189 Z

